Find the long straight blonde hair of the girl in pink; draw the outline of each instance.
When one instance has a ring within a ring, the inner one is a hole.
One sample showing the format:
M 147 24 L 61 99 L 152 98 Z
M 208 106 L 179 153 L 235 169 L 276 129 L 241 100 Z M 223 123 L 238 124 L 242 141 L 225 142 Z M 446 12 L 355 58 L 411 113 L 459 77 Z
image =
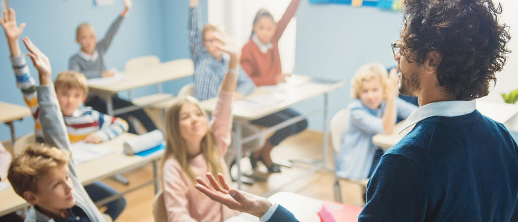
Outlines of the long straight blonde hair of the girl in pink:
M 165 152 L 164 157 L 162 158 L 161 169 L 164 168 L 164 163 L 167 159 L 174 157 L 182 167 L 182 170 L 189 176 L 192 182 L 194 182 L 195 175 L 189 165 L 187 145 L 180 135 L 180 110 L 185 104 L 195 105 L 208 119 L 207 113 L 200 108 L 198 100 L 194 97 L 180 97 L 175 101 L 175 103 L 167 110 L 165 116 Z M 203 156 L 207 161 L 207 165 L 209 166 L 209 171 L 214 175 L 217 175 L 218 172 L 223 173 L 221 155 L 218 152 L 214 136 L 212 135 L 210 128 L 207 129 L 207 134 L 203 137 L 200 146 Z

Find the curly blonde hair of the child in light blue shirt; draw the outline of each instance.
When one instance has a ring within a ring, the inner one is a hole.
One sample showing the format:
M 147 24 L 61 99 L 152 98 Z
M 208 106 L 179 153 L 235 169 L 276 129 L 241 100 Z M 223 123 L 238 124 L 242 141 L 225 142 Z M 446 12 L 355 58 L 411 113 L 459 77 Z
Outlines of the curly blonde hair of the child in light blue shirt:
M 351 98 L 359 98 L 359 94 L 362 91 L 362 83 L 372 79 L 380 80 L 381 86 L 383 87 L 383 98 L 385 99 L 387 95 L 389 72 L 379 63 L 365 64 L 356 70 L 354 77 L 351 79 Z

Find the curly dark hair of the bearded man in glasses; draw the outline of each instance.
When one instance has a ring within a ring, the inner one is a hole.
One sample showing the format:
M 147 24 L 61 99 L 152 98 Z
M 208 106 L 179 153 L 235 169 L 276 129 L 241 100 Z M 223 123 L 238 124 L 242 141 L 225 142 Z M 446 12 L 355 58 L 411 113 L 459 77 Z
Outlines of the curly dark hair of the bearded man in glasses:
M 491 0 L 405 0 L 401 52 L 423 64 L 428 52 L 441 55 L 439 85 L 457 100 L 486 96 L 495 72 L 506 64 L 511 39 L 502 12 Z M 410 50 L 409 50 L 410 49 Z

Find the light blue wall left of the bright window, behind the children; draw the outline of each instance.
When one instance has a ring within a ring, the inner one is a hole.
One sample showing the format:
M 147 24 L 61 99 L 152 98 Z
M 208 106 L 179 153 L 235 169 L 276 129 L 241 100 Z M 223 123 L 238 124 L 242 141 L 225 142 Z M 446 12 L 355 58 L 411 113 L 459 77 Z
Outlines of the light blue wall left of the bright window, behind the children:
M 30 37 L 49 57 L 53 78 L 58 72 L 67 69 L 68 57 L 79 50 L 75 42 L 76 26 L 81 22 L 89 22 L 94 26 L 97 37 L 102 38 L 124 7 L 122 1 L 118 0 L 114 5 L 105 7 L 94 6 L 92 0 L 24 0 L 9 3 L 16 10 L 18 22 L 27 23 L 22 36 Z M 133 0 L 133 8 L 128 12 L 106 54 L 107 68 L 123 70 L 128 59 L 142 55 L 156 55 L 161 61 L 188 58 L 188 4 L 188 1 Z M 200 1 L 200 5 L 206 12 L 207 0 Z M 207 21 L 206 13 L 202 21 Z M 23 46 L 22 52 L 26 53 Z M 0 101 L 24 106 L 22 95 L 15 85 L 8 59 L 9 49 L 3 34 L 0 35 L 0 56 L 4 56 L 0 60 Z M 37 72 L 32 67 L 31 73 L 37 79 Z M 185 78 L 168 82 L 164 84 L 164 91 L 177 93 L 181 86 L 190 81 L 190 78 Z M 145 87 L 136 90 L 135 95 L 154 92 L 154 87 Z M 16 122 L 17 136 L 33 131 L 33 124 L 32 117 Z M 9 139 L 9 135 L 9 128 L 2 124 L 0 140 Z

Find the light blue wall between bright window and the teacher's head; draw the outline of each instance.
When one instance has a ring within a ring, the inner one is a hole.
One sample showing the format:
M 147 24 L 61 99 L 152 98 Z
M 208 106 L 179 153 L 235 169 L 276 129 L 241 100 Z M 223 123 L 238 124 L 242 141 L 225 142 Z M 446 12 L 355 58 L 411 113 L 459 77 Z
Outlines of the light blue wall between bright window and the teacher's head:
M 399 38 L 402 15 L 378 8 L 346 5 L 310 5 L 302 1 L 297 11 L 295 73 L 345 80 L 329 94 L 328 120 L 351 101 L 350 82 L 366 63 L 394 66 L 390 43 Z M 323 97 L 296 105 L 304 112 L 323 106 Z M 310 128 L 322 130 L 322 113 L 311 115 Z

